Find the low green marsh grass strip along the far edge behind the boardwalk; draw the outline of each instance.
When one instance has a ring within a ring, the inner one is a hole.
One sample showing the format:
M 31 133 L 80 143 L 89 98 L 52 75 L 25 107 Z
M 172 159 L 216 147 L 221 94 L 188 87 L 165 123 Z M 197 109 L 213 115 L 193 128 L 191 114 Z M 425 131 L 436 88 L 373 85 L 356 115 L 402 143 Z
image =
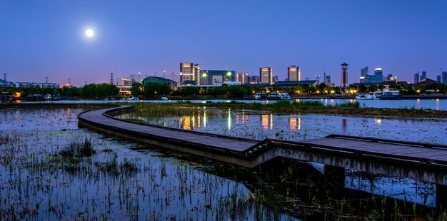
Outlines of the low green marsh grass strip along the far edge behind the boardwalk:
M 277 101 L 275 103 L 132 103 L 134 110 L 114 113 L 134 113 L 140 117 L 181 116 L 201 113 L 206 108 L 209 115 L 224 115 L 225 111 L 266 111 L 275 114 L 328 114 L 328 115 L 356 115 L 356 116 L 389 116 L 411 118 L 447 118 L 447 111 L 418 109 L 418 108 L 361 108 L 358 102 L 337 103 L 325 106 L 321 101 Z M 224 110 L 224 112 L 223 112 Z

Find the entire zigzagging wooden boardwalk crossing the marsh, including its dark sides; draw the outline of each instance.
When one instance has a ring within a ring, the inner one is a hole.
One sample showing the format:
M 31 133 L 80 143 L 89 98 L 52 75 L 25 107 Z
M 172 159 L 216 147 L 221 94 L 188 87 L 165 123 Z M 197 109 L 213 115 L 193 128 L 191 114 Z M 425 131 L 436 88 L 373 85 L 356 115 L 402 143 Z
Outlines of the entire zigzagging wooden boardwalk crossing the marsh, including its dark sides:
M 296 141 L 233 138 L 136 123 L 107 115 L 122 108 L 132 106 L 86 111 L 79 115 L 79 124 L 161 148 L 247 167 L 255 167 L 273 158 L 293 158 L 371 173 L 406 175 L 447 185 L 447 145 L 346 135 Z

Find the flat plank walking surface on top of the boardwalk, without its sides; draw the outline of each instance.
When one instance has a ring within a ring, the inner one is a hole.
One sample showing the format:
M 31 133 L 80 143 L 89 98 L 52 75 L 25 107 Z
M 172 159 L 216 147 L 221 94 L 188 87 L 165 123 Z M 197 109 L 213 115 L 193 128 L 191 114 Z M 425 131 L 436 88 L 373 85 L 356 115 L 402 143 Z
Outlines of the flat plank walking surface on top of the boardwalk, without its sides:
M 82 113 L 82 118 L 90 120 L 94 123 L 108 125 L 114 128 L 121 128 L 136 134 L 158 136 L 161 139 L 166 138 L 167 140 L 173 141 L 178 140 L 176 142 L 184 140 L 186 143 L 198 145 L 201 148 L 209 148 L 210 151 L 219 149 L 242 153 L 244 150 L 248 150 L 248 148 L 251 148 L 253 145 L 258 143 L 256 140 L 231 138 L 223 135 L 191 132 L 190 130 L 187 131 L 173 128 L 162 128 L 159 126 L 142 125 L 139 123 L 130 123 L 124 120 L 109 118 L 103 114 L 105 111 L 113 109 L 116 108 Z M 369 140 L 373 140 L 373 142 Z M 413 144 L 411 142 L 383 140 L 378 138 L 356 138 L 343 135 L 337 135 L 334 138 L 299 140 L 296 142 L 283 140 L 274 140 L 274 142 L 284 146 L 291 145 L 293 147 L 311 145 L 318 148 L 318 151 L 327 153 L 336 153 L 337 151 L 343 151 L 346 153 L 355 152 L 356 154 L 361 153 L 363 155 L 370 155 L 371 158 L 397 158 L 401 160 L 416 161 L 433 160 L 436 161 L 436 163 L 447 165 L 446 150 L 415 146 L 425 145 L 421 143 Z

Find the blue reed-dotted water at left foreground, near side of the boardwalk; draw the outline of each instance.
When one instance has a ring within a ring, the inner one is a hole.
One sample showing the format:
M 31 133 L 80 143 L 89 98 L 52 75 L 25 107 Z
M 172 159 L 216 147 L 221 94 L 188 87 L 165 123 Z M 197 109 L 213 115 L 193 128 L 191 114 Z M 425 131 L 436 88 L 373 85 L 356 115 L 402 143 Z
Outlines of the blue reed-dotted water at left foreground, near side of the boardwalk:
M 78 128 L 81 111 L 0 108 L 0 220 L 294 220 L 203 165 Z M 63 154 L 84 140 L 93 155 Z

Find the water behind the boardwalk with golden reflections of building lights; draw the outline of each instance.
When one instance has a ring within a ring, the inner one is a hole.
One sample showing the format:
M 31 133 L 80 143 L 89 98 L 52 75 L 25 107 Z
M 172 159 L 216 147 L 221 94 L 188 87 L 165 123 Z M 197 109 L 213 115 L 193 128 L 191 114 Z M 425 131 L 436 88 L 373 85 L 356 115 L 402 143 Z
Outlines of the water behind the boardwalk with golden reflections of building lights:
M 208 109 L 209 110 L 209 109 Z M 338 115 L 276 115 L 261 111 L 231 111 L 221 113 L 207 108 L 192 115 L 144 118 L 135 113 L 119 117 L 144 120 L 151 124 L 197 130 L 263 140 L 302 140 L 323 138 L 330 134 L 407 140 L 447 144 L 446 119 L 411 119 L 388 117 L 353 117 Z

